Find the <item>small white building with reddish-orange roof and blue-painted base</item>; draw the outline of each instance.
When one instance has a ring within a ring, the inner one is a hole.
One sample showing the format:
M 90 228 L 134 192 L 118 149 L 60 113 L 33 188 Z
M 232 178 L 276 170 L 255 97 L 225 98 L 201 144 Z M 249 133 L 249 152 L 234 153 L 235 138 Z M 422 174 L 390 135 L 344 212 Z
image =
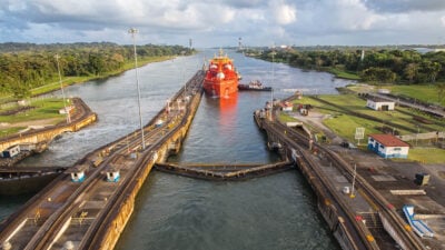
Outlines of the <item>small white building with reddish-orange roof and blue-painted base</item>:
M 368 149 L 383 158 L 408 158 L 409 144 L 393 134 L 369 134 Z

